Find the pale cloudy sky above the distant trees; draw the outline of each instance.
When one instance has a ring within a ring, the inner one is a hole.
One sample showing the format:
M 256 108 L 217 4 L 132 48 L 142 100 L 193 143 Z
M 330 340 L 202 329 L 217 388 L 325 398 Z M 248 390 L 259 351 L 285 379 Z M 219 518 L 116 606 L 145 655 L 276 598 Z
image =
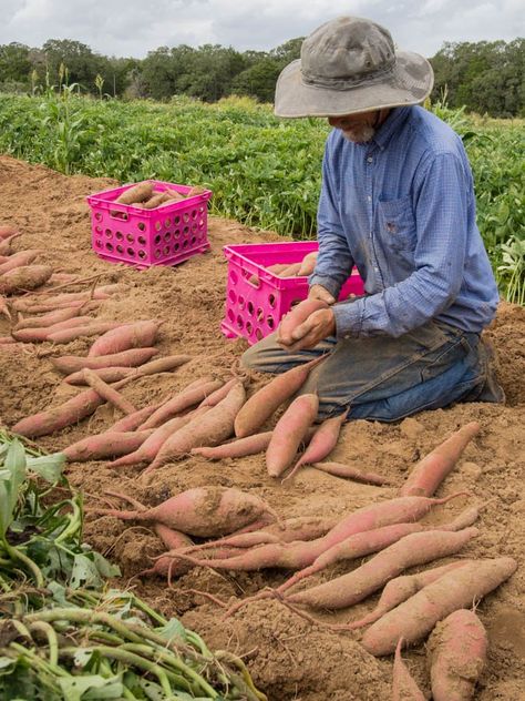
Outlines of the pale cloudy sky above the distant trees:
M 269 51 L 341 14 L 387 27 L 399 49 L 432 57 L 444 41 L 525 35 L 523 0 L 0 0 L 0 44 L 72 39 L 104 55 L 144 58 L 205 43 Z

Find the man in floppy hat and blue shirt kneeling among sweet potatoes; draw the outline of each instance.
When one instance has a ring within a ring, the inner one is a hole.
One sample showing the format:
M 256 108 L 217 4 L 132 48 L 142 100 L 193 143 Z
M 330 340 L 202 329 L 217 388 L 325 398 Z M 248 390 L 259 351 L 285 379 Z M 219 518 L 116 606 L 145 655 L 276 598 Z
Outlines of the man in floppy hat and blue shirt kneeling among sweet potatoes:
M 309 297 L 328 303 L 285 345 L 279 331 L 243 364 L 282 373 L 329 354 L 302 393 L 320 417 L 401 419 L 452 402 L 503 402 L 480 334 L 498 294 L 475 223 L 470 164 L 455 132 L 418 106 L 433 73 L 390 33 L 341 17 L 313 31 L 281 72 L 275 112 L 326 116 L 319 256 Z M 357 266 L 366 294 L 334 304 Z

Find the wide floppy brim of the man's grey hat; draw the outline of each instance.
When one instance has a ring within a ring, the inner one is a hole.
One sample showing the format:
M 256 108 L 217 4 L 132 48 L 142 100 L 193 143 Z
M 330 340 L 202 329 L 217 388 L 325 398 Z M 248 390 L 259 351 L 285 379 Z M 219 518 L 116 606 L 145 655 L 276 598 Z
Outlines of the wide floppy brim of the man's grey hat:
M 410 51 L 395 53 L 392 72 L 381 81 L 348 90 L 317 88 L 302 82 L 300 59 L 280 73 L 275 96 L 277 116 L 341 116 L 400 105 L 420 104 L 434 84 L 434 72 L 425 58 Z

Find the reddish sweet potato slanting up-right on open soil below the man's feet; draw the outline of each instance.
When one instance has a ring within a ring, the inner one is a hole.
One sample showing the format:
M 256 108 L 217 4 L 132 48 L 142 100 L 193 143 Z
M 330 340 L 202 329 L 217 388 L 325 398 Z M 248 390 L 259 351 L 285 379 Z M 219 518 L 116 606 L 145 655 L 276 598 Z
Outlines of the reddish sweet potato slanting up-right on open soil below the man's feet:
M 454 468 L 461 454 L 480 433 L 477 421 L 471 421 L 447 438 L 440 446 L 429 453 L 410 473 L 409 478 L 400 490 L 404 497 L 431 497 L 445 477 Z

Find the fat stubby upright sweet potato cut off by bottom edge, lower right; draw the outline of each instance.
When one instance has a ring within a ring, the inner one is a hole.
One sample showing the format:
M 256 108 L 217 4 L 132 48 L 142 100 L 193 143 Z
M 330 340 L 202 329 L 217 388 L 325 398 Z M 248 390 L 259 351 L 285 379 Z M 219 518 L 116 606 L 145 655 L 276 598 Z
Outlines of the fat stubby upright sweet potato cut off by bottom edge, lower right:
M 432 631 L 426 644 L 434 701 L 470 701 L 486 663 L 488 640 L 474 611 L 459 609 Z

